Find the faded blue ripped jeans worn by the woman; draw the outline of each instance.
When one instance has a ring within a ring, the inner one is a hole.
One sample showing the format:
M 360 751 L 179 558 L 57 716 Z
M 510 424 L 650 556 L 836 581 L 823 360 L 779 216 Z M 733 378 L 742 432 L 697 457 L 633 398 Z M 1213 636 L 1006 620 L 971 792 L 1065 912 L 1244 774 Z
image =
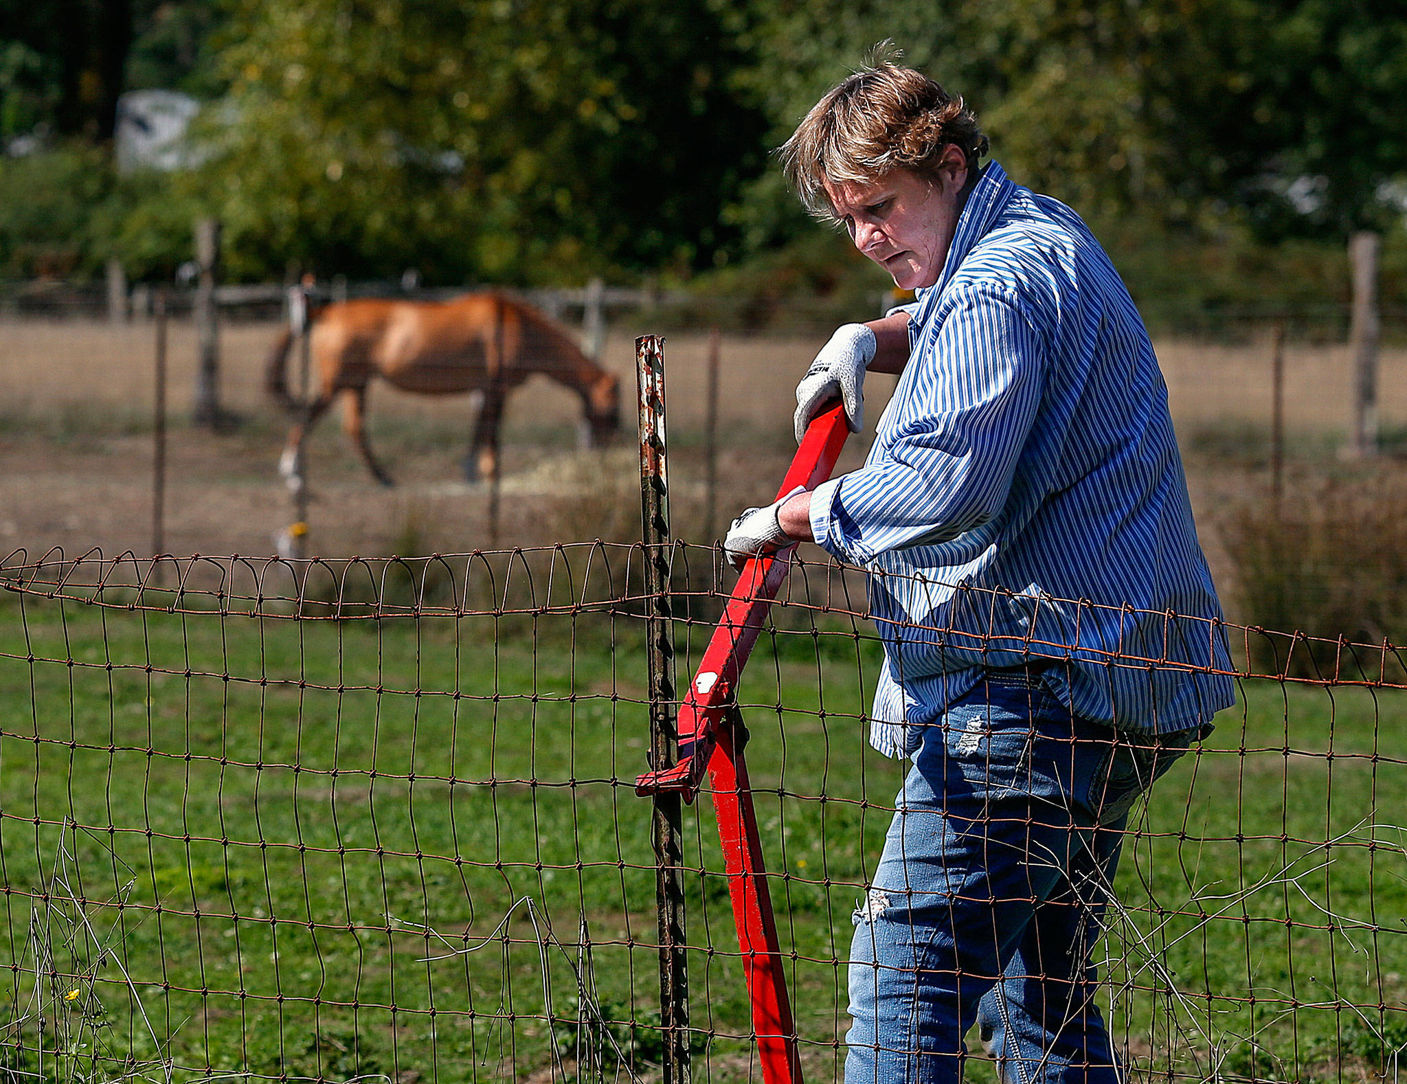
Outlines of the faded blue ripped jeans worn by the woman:
M 1023 668 L 926 727 L 854 915 L 846 1084 L 957 1081 L 974 1022 L 1003 1084 L 1114 1084 L 1090 953 L 1128 810 L 1196 738 L 1075 718 Z

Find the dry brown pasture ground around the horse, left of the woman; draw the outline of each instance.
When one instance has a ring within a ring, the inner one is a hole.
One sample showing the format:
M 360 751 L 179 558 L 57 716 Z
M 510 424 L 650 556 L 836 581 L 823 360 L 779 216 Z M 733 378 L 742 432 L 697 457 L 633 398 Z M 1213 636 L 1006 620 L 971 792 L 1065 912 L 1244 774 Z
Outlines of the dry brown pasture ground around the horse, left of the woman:
M 196 339 L 189 322 L 170 325 L 172 553 L 270 553 L 274 533 L 290 519 L 290 499 L 274 471 L 288 422 L 263 392 L 265 357 L 279 330 L 274 323 L 224 326 L 221 398 L 243 425 L 212 436 L 186 425 Z M 667 350 L 675 527 L 685 533 L 698 529 L 702 509 L 706 336 L 670 336 Z M 770 496 L 768 486 L 781 477 L 792 450 L 787 404 L 810 350 L 812 343 L 801 340 L 725 342 L 719 463 L 729 496 L 720 501 L 720 515 L 736 501 Z M 151 323 L 0 322 L 0 550 L 151 551 L 152 359 Z M 629 447 L 630 337 L 609 339 L 606 364 L 623 378 Z M 875 408 L 886 398 L 885 385 L 892 380 L 872 388 Z M 460 475 L 473 423 L 470 399 L 412 396 L 378 384 L 370 416 L 373 443 L 400 485 L 387 491 L 371 482 L 336 419 L 325 420 L 311 449 L 314 548 L 325 555 L 387 553 L 405 536 L 407 523 L 419 524 L 428 548 L 488 546 L 487 491 Z M 618 450 L 578 458 L 578 416 L 575 396 L 545 378 L 509 399 L 499 544 L 539 543 L 567 529 L 582 537 L 620 536 L 622 524 L 637 520 L 632 456 Z M 858 456 L 857 449 L 847 461 L 854 465 Z

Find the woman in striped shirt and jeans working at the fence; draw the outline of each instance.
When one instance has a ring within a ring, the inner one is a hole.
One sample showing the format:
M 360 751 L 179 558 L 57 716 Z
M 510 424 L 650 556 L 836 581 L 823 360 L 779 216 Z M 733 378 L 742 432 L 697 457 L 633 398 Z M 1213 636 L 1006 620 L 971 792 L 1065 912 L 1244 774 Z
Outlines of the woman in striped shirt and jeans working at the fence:
M 763 509 L 734 560 L 816 541 L 871 572 L 872 744 L 913 761 L 850 964 L 846 1080 L 1116 1081 L 1089 953 L 1135 797 L 1233 702 L 1166 388 L 1079 217 L 981 167 L 962 100 L 882 62 L 784 148 L 898 287 L 796 389 L 798 437 L 899 373 L 864 468 Z

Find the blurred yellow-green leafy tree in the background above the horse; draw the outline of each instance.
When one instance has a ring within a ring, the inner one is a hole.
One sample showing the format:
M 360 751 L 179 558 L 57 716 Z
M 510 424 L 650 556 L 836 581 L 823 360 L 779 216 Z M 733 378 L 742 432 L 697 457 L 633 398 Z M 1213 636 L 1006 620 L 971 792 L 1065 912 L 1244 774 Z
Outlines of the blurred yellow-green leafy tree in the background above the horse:
M 706 0 L 245 0 L 200 183 L 234 274 L 708 266 L 763 118 Z

